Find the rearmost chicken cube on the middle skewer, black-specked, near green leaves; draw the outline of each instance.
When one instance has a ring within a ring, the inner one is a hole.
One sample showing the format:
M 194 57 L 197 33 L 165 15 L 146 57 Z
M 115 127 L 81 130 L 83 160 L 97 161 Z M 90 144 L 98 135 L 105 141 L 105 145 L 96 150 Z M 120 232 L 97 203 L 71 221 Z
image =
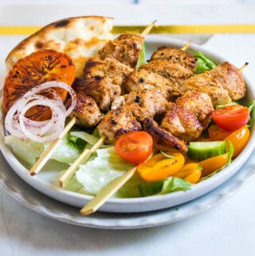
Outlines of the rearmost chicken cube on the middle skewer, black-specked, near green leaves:
M 151 56 L 151 61 L 163 59 L 166 59 L 172 63 L 179 63 L 186 67 L 186 69 L 190 69 L 192 73 L 194 73 L 194 69 L 197 65 L 197 58 L 190 53 L 182 51 L 182 49 L 167 46 L 159 47 L 159 49 L 157 49 Z

